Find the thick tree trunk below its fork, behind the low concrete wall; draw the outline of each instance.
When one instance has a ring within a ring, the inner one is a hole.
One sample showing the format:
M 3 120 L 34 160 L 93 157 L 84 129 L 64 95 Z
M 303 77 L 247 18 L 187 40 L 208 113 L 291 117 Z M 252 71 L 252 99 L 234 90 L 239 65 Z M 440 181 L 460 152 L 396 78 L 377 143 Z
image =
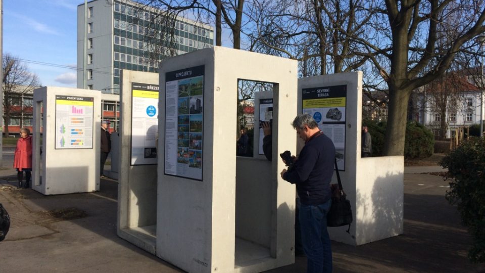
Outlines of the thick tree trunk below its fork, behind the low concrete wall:
M 404 141 L 406 138 L 406 122 L 409 97 L 412 90 L 393 90 L 389 88 L 389 105 L 387 113 L 387 127 L 384 136 L 383 156 L 404 155 Z

